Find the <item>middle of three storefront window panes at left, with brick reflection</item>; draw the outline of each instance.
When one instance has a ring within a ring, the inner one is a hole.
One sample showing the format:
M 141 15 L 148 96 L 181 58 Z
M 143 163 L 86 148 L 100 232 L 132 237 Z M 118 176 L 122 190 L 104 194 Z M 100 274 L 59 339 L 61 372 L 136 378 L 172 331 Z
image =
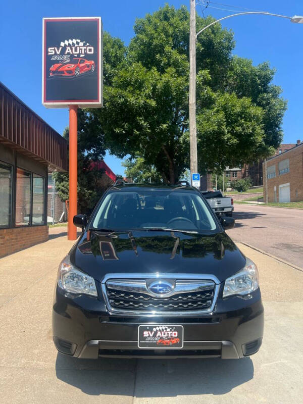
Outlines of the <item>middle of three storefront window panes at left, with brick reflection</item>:
M 17 168 L 16 226 L 24 226 L 30 224 L 30 201 L 30 173 Z

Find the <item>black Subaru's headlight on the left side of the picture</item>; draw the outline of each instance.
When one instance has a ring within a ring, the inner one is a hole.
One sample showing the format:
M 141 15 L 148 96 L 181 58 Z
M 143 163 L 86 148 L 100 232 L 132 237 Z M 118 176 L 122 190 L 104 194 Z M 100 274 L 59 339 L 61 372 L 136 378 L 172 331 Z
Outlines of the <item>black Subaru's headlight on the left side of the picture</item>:
M 59 266 L 58 285 L 70 293 L 98 295 L 94 279 L 76 269 L 68 256 Z

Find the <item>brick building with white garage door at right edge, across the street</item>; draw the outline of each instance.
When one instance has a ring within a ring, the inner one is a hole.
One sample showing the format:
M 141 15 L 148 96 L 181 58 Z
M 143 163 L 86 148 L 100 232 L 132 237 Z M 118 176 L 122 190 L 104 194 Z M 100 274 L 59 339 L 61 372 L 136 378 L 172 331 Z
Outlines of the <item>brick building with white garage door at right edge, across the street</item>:
M 303 200 L 303 142 L 297 140 L 294 147 L 267 160 L 267 192 L 269 202 Z M 263 193 L 265 200 L 266 186 L 263 187 Z

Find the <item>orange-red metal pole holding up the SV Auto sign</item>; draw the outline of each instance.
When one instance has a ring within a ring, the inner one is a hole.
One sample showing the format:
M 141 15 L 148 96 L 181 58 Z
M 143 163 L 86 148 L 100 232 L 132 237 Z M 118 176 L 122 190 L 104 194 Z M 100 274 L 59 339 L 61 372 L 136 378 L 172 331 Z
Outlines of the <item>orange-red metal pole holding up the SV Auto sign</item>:
M 69 210 L 68 240 L 76 240 L 77 228 L 73 218 L 77 215 L 77 105 L 69 106 Z

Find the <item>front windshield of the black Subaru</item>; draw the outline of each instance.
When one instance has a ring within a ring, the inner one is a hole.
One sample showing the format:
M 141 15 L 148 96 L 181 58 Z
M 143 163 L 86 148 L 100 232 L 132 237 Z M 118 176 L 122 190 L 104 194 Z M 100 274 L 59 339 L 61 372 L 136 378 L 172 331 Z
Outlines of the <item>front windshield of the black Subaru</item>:
M 110 192 L 96 210 L 92 227 L 206 232 L 217 224 L 198 193 L 142 189 Z

